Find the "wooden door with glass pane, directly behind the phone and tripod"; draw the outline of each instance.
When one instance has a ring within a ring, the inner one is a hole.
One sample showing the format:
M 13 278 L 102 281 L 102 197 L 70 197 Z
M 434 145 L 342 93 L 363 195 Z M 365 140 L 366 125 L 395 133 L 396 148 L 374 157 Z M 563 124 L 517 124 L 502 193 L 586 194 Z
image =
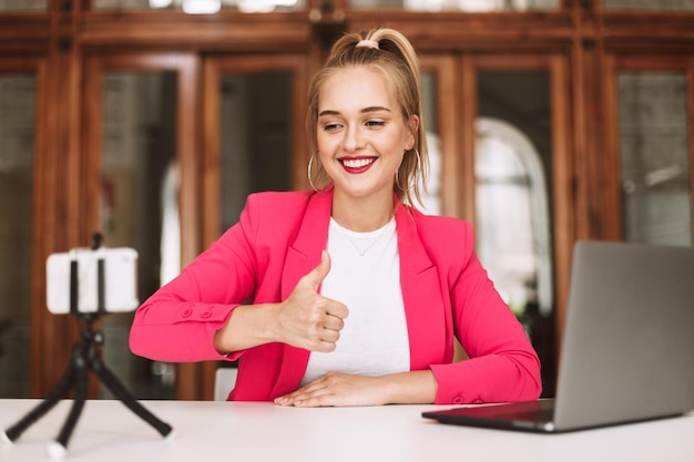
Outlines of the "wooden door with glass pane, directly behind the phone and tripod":
M 144 301 L 201 248 L 200 61 L 104 52 L 84 63 L 82 236 L 99 232 L 105 246 L 137 250 Z M 175 365 L 130 352 L 132 317 L 103 318 L 106 366 L 137 398 L 193 397 Z M 103 387 L 93 392 L 110 396 Z

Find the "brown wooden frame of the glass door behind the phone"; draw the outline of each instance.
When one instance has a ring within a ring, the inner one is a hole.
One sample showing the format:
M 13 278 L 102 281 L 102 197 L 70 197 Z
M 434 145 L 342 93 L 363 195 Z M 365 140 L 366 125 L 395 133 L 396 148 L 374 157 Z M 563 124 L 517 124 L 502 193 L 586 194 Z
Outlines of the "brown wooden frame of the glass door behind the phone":
M 99 52 L 84 57 L 81 209 L 82 236 L 99 229 L 99 201 L 89 192 L 100 191 L 103 122 L 103 79 L 109 71 L 172 71 L 176 73 L 176 152 L 180 165 L 178 213 L 181 223 L 181 265 L 192 261 L 201 250 L 200 155 L 198 155 L 198 75 L 200 59 L 191 53 Z M 194 365 L 180 365 L 176 394 L 195 396 L 200 388 Z M 90 389 L 94 394 L 96 389 Z

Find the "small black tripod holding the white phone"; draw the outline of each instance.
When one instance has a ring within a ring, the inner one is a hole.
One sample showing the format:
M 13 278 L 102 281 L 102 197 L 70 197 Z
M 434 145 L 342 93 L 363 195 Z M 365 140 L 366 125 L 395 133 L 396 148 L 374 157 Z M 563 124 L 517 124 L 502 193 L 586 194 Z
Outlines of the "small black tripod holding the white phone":
M 94 236 L 93 250 L 99 248 L 99 237 Z M 72 348 L 72 356 L 60 381 L 50 391 L 45 399 L 32 409 L 27 415 L 14 425 L 4 431 L 4 437 L 10 442 L 14 442 L 34 422 L 48 413 L 58 402 L 64 398 L 74 387 L 74 401 L 72 408 L 63 423 L 55 441 L 49 445 L 49 453 L 54 458 L 62 458 L 67 453 L 68 442 L 78 423 L 80 414 L 86 401 L 88 373 L 92 371 L 99 380 L 135 414 L 154 427 L 162 437 L 167 437 L 172 432 L 171 425 L 161 421 L 152 412 L 137 402 L 121 383 L 121 381 L 109 370 L 102 359 L 101 346 L 103 345 L 103 333 L 94 329 L 94 322 L 101 314 L 105 312 L 104 302 L 104 260 L 98 260 L 98 284 L 99 300 L 96 312 L 80 312 L 78 309 L 78 271 L 76 261 L 71 261 L 70 268 L 70 312 L 78 317 L 84 325 L 81 340 Z

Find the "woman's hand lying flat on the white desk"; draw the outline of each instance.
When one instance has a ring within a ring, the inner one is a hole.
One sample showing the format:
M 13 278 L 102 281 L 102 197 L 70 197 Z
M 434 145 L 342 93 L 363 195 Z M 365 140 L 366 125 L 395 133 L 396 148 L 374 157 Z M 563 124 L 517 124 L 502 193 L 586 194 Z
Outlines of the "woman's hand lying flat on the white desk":
M 297 408 L 386 404 L 382 378 L 328 372 L 298 390 L 275 399 L 275 404 Z

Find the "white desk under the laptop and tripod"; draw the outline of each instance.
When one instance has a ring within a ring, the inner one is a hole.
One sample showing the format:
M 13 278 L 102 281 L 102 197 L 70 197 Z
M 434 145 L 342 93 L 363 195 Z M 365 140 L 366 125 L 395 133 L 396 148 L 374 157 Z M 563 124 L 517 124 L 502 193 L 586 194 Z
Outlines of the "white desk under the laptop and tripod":
M 6 430 L 35 400 L 0 400 Z M 694 461 L 694 415 L 538 435 L 445 425 L 422 419 L 432 405 L 280 408 L 272 403 L 144 401 L 174 428 L 163 439 L 119 401 L 89 401 L 72 434 L 67 461 Z M 71 401 L 63 401 L 0 460 L 47 461 Z

